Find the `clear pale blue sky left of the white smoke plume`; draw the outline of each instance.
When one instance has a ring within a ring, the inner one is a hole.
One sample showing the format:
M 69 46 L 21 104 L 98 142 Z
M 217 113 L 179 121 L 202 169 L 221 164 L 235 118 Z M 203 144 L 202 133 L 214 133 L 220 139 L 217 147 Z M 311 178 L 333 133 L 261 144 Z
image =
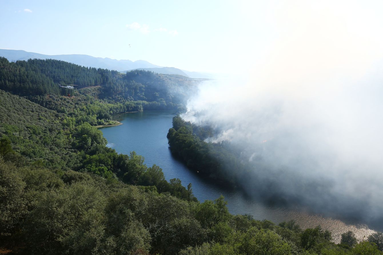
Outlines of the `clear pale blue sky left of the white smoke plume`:
M 234 1 L 0 1 L 0 6 L 2 49 L 142 59 L 191 71 L 221 72 L 246 53 L 257 26 L 242 13 L 246 3 Z

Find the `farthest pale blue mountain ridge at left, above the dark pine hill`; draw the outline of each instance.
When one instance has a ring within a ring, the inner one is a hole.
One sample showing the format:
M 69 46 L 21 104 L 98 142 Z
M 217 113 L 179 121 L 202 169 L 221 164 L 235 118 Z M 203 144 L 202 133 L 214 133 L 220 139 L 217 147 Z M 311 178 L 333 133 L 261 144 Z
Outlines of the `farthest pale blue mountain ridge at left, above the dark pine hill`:
M 70 55 L 44 55 L 34 52 L 27 52 L 21 50 L 8 50 L 0 49 L 0 56 L 6 57 L 9 61 L 16 60 L 28 60 L 28 59 L 57 59 L 64 60 L 73 64 L 83 65 L 87 67 L 105 68 L 111 70 L 129 70 L 137 68 L 150 68 L 160 67 L 159 65 L 153 65 L 145 60 L 116 60 L 108 57 L 92 57 L 81 54 L 70 54 Z

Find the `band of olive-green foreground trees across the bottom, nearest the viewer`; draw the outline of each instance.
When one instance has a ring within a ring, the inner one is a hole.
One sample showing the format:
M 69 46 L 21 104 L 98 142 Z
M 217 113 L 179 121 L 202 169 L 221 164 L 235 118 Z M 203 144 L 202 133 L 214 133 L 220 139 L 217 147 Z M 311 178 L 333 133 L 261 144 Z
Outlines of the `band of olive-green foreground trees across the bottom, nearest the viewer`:
M 331 242 L 302 230 L 231 215 L 203 203 L 89 173 L 16 167 L 0 157 L 0 250 L 8 254 L 381 255 L 383 234 Z

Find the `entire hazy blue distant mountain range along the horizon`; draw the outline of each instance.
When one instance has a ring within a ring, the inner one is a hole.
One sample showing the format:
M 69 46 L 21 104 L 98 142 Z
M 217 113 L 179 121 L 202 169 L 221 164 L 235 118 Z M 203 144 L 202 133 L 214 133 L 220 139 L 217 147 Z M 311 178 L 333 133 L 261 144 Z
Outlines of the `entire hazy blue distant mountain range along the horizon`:
M 151 64 L 145 60 L 117 60 L 108 57 L 92 57 L 82 54 L 69 54 L 69 55 L 44 55 L 35 52 L 27 52 L 22 50 L 8 50 L 0 49 L 0 56 L 7 58 L 9 61 L 28 60 L 28 59 L 57 59 L 70 62 L 77 65 L 86 67 L 105 68 L 110 70 L 117 70 L 119 72 L 126 72 L 126 70 L 144 69 L 159 74 L 179 74 L 191 78 L 212 78 L 210 74 L 201 74 L 198 72 L 189 72 L 175 67 L 161 67 L 159 65 Z M 125 70 L 125 71 L 121 71 Z

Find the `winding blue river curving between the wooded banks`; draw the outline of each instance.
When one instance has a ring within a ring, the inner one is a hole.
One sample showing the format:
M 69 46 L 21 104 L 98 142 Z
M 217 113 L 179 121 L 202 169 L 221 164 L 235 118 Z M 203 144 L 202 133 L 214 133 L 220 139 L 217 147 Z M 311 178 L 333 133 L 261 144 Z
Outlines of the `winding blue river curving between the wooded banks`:
M 147 166 L 159 165 L 167 180 L 180 178 L 183 186 L 192 183 L 193 193 L 199 201 L 214 200 L 223 195 L 228 201 L 228 209 L 232 214 L 250 214 L 254 216 L 254 219 L 268 219 L 275 223 L 295 219 L 303 228 L 321 225 L 323 229 L 332 232 L 335 242 L 339 242 L 340 235 L 348 230 L 352 230 L 359 240 L 374 232 L 367 225 L 358 222 L 345 222 L 340 219 L 323 217 L 319 214 L 305 212 L 301 208 L 267 205 L 244 196 L 241 191 L 228 190 L 212 181 L 200 178 L 198 173 L 188 170 L 170 153 L 166 135 L 169 128 L 172 127 L 174 115 L 173 111 L 116 114 L 114 119 L 123 124 L 101 127 L 100 130 L 108 140 L 107 146 L 115 149 L 116 152 L 129 154 L 134 150 L 138 155 L 145 157 Z

